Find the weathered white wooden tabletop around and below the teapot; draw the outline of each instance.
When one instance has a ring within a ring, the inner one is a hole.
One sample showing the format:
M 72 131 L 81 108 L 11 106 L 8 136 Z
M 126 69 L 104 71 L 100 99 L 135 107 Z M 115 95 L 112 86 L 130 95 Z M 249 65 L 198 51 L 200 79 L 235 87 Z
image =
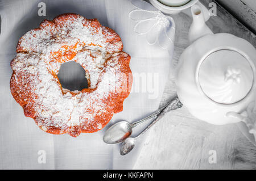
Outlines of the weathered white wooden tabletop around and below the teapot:
M 200 1 L 206 6 L 213 2 Z M 175 53 L 161 105 L 175 94 L 174 70 L 180 54 L 188 47 L 188 29 L 192 22 L 183 13 L 172 17 L 176 23 Z M 217 16 L 212 16 L 207 24 L 214 33 L 233 33 L 256 47 L 256 36 L 219 5 Z M 185 107 L 168 113 L 145 136 L 134 169 L 256 169 L 256 147 L 235 124 L 205 123 Z M 215 153 L 216 163 L 212 163 Z

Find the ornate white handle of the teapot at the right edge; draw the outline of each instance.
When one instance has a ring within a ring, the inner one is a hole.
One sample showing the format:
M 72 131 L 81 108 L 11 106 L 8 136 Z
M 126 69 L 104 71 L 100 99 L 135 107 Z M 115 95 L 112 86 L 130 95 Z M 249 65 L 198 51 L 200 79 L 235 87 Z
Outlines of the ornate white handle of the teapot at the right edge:
M 228 112 L 226 116 L 234 117 L 234 119 L 240 120 L 237 123 L 237 127 L 240 131 L 256 146 L 256 121 L 251 119 L 249 115 L 253 112 L 254 102 L 251 102 L 247 106 L 246 111 L 242 113 Z

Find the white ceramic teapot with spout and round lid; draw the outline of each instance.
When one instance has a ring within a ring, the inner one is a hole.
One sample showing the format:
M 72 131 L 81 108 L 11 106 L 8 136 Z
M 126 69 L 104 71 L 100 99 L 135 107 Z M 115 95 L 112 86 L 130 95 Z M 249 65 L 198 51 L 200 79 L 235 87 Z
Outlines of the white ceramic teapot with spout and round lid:
M 256 50 L 240 37 L 213 34 L 200 6 L 193 5 L 191 12 L 191 45 L 177 66 L 177 95 L 200 120 L 217 125 L 246 123 L 246 110 L 254 107 L 256 94 Z M 250 133 L 256 130 L 254 123 L 246 123 Z

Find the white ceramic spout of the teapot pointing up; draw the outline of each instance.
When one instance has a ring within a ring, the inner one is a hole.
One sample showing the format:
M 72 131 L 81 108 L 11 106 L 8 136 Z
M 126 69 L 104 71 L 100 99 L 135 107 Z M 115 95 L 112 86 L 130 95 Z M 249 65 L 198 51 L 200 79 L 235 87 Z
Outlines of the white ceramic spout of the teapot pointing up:
M 191 7 L 191 13 L 193 22 L 188 32 L 189 43 L 193 43 L 195 40 L 205 35 L 213 35 L 213 32 L 205 24 L 204 14 L 201 7 L 197 4 Z

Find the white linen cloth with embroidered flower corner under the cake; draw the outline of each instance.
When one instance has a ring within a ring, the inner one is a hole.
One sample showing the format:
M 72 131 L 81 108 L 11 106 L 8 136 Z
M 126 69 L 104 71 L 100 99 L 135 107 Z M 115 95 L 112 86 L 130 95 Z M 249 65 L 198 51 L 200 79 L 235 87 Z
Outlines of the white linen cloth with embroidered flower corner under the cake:
M 46 16 L 38 15 L 39 2 L 46 4 Z M 24 116 L 9 85 L 10 61 L 15 57 L 19 37 L 38 27 L 43 19 L 66 12 L 97 18 L 113 28 L 121 36 L 123 50 L 131 56 L 134 74 L 133 91 L 123 103 L 123 111 L 101 131 L 82 133 L 77 138 L 41 131 L 34 120 Z M 139 120 L 159 107 L 174 48 L 173 20 L 141 0 L 6 0 L 0 2 L 0 15 L 0 169 L 132 169 L 143 142 L 137 142 L 131 153 L 121 156 L 120 145 L 107 145 L 102 137 L 113 123 Z M 144 85 L 135 80 L 138 73 L 146 73 L 147 78 L 150 74 L 156 76 L 153 92 L 134 91 L 136 82 L 136 86 Z M 46 163 L 38 163 L 40 150 L 45 150 Z

